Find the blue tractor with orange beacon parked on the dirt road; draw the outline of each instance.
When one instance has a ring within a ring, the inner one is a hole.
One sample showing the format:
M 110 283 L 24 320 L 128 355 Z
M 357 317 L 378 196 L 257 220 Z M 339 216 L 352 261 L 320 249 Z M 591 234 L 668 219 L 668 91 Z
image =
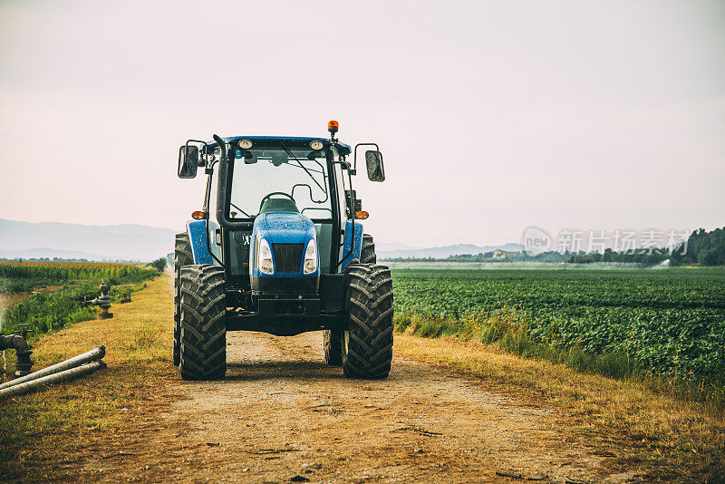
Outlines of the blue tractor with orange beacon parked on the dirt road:
M 391 272 L 376 263 L 352 184 L 358 151 L 368 178 L 385 179 L 382 153 L 341 143 L 337 121 L 328 131 L 180 147 L 179 178 L 200 167 L 207 176 L 203 208 L 174 251 L 173 360 L 184 379 L 224 377 L 227 331 L 324 331 L 325 363 L 353 378 L 390 373 Z

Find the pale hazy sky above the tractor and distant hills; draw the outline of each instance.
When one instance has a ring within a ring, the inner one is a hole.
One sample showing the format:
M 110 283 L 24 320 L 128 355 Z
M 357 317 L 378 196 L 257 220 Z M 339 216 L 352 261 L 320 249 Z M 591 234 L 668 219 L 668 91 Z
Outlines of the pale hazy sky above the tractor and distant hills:
M 330 119 L 380 241 L 722 227 L 725 2 L 0 0 L 0 218 L 180 229 L 179 144 Z

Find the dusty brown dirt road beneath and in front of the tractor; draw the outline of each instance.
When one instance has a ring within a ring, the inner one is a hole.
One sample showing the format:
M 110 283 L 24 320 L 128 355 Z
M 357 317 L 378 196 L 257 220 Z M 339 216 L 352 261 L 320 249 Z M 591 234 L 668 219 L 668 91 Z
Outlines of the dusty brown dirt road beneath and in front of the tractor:
M 320 333 L 232 333 L 227 344 L 226 379 L 172 382 L 169 411 L 140 415 L 127 445 L 86 460 L 82 474 L 121 482 L 633 477 L 607 476 L 607 458 L 578 440 L 560 411 L 473 378 L 397 356 L 387 380 L 348 380 L 324 364 Z

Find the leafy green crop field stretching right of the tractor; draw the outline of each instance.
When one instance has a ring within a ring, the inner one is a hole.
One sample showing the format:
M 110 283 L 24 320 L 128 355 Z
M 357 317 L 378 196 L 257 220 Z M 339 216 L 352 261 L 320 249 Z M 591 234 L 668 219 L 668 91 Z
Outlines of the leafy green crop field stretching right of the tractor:
M 393 270 L 398 330 L 721 384 L 725 270 Z M 558 356 L 557 356 L 558 355 Z M 578 363 L 577 363 L 578 362 Z

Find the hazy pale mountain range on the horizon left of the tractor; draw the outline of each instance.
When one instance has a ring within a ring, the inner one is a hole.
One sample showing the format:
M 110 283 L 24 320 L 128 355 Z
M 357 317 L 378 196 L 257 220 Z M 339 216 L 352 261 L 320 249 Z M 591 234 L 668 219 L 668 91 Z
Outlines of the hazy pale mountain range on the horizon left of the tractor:
M 0 218 L 0 257 L 150 261 L 174 251 L 169 228 L 87 226 Z

